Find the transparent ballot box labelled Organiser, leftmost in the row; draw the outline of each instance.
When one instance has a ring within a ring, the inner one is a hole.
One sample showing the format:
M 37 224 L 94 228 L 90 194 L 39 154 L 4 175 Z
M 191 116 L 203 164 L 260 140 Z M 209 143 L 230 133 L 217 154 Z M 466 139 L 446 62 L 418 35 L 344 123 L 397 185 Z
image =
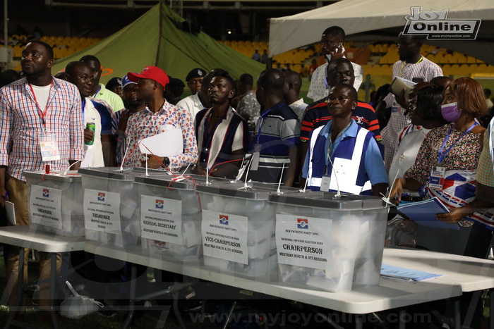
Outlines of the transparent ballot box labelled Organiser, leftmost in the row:
M 83 188 L 76 171 L 24 171 L 31 228 L 67 237 L 84 236 Z

